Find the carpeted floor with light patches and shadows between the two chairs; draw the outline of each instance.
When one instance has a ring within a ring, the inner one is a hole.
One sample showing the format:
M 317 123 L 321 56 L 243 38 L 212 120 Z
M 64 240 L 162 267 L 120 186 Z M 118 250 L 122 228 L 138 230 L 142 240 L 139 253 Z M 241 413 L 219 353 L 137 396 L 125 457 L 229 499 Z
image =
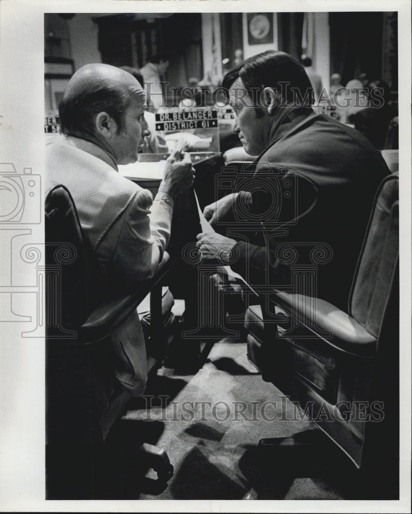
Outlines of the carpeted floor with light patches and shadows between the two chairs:
M 258 446 L 261 438 L 316 435 L 318 430 L 262 380 L 247 360 L 244 342 L 215 343 L 194 374 L 158 370 L 145 397 L 131 401 L 121 424 L 123 433 L 137 430 L 146 442 L 165 449 L 174 466 L 166 486 L 159 487 L 156 473 L 149 470 L 139 491 L 123 493 L 123 498 L 363 498 L 354 466 L 326 437 L 325 446 L 309 455 Z

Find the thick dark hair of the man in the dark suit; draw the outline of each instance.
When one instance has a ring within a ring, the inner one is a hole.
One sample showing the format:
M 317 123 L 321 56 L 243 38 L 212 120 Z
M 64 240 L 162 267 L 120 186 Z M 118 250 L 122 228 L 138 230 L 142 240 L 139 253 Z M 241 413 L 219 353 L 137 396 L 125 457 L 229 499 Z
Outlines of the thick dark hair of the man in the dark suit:
M 283 101 L 296 106 L 310 107 L 314 102 L 313 87 L 306 71 L 289 53 L 267 50 L 249 57 L 227 72 L 222 86 L 229 89 L 238 78 L 242 79 L 250 98 L 260 98 L 265 87 L 272 87 L 282 94 Z

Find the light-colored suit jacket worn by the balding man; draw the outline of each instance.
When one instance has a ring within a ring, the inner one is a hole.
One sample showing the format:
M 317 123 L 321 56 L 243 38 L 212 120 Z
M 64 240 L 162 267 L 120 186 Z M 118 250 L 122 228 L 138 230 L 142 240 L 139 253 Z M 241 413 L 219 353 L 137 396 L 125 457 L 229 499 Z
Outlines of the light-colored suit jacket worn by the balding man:
M 97 145 L 65 136 L 47 146 L 47 187 L 60 183 L 73 196 L 84 236 L 96 257 L 101 299 L 152 277 L 169 242 L 173 200 L 140 188 L 117 173 L 111 156 Z M 64 234 L 62 234 L 64 241 Z M 112 337 L 115 373 L 132 394 L 147 380 L 145 341 L 137 315 Z

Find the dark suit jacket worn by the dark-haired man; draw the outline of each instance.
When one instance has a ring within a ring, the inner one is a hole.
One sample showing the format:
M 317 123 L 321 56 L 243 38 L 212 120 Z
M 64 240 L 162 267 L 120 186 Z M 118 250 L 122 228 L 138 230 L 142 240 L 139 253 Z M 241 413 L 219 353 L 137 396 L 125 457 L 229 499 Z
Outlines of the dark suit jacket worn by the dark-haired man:
M 365 137 L 326 115 L 300 108 L 279 118 L 244 188 L 253 207 L 249 221 L 243 213 L 239 223 L 244 241 L 238 238 L 232 268 L 252 284 L 280 287 L 292 286 L 292 268 L 304 266 L 308 276 L 315 270 L 312 294 L 347 310 L 373 198 L 389 170 Z M 257 219 L 261 229 L 247 230 Z

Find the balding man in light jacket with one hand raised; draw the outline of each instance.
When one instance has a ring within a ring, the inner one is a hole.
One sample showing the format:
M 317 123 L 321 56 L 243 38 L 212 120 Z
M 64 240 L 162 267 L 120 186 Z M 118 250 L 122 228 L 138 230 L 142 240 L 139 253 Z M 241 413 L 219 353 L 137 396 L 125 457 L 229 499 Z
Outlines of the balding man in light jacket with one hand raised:
M 59 141 L 48 145 L 47 190 L 67 187 L 96 257 L 100 300 L 127 294 L 152 277 L 169 242 L 173 202 L 193 183 L 189 154 L 175 151 L 152 194 L 117 173 L 137 160 L 150 135 L 145 94 L 127 71 L 89 64 L 70 79 L 59 105 Z M 62 234 L 62 241 L 64 234 Z M 146 386 L 145 341 L 137 314 L 113 338 L 117 379 L 133 395 Z

